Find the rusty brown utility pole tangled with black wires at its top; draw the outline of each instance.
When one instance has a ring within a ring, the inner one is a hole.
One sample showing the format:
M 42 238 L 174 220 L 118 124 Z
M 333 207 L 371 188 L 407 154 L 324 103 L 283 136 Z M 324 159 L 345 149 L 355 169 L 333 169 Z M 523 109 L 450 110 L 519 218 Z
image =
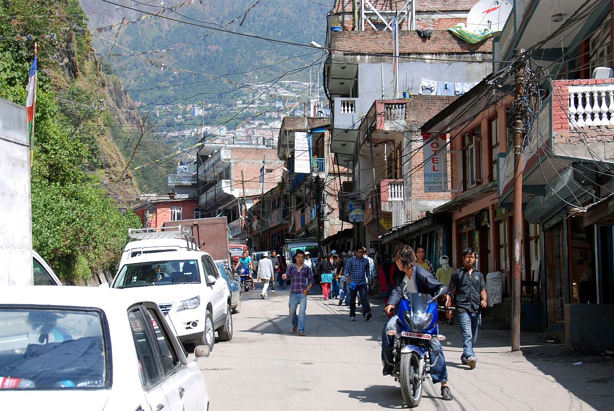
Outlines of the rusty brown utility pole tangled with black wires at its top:
M 515 50 L 515 57 L 521 58 L 524 49 Z M 522 263 L 522 235 L 523 235 L 523 136 L 525 121 L 524 101 L 524 71 L 526 59 L 518 61 L 515 72 L 514 92 L 514 264 L 511 277 L 511 350 L 520 350 L 520 304 L 521 304 L 521 275 Z

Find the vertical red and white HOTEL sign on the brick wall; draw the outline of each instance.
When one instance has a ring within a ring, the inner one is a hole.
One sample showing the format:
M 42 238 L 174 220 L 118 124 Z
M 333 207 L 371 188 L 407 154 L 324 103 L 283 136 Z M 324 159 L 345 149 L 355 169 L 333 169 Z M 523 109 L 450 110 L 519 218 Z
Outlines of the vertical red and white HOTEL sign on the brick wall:
M 432 138 L 429 133 L 424 133 L 422 139 L 424 140 L 424 192 L 446 192 L 448 163 L 443 152 L 446 148 L 446 136 Z

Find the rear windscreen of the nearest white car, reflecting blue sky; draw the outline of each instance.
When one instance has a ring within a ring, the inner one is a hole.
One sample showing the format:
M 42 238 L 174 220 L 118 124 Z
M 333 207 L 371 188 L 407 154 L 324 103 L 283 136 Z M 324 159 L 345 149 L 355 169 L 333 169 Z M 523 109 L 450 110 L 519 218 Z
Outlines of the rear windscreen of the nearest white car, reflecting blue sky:
M 103 313 L 0 305 L 0 391 L 109 384 Z

